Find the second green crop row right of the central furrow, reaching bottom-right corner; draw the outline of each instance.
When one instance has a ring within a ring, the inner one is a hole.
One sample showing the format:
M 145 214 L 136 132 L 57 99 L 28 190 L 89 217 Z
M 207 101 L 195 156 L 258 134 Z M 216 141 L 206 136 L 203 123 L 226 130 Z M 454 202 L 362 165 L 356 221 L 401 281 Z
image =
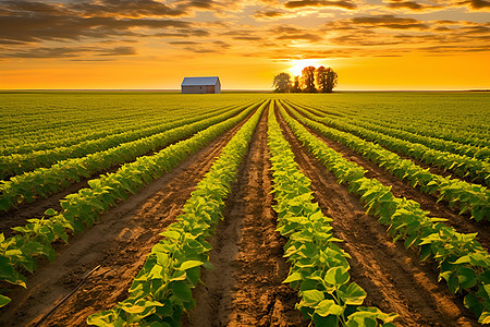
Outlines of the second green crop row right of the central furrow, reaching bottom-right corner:
M 388 226 L 393 240 L 404 240 L 406 249 L 416 249 L 421 261 L 437 263 L 439 280 L 444 279 L 451 292 L 465 293 L 465 306 L 481 324 L 490 323 L 490 255 L 475 240 L 476 234 L 458 233 L 442 222 L 445 219 L 428 217 L 417 202 L 395 197 L 391 186 L 365 178 L 365 169 L 311 135 L 284 108 L 280 111 L 295 136 L 334 173 L 339 183 L 346 183 L 351 193 L 360 196 L 367 213 Z

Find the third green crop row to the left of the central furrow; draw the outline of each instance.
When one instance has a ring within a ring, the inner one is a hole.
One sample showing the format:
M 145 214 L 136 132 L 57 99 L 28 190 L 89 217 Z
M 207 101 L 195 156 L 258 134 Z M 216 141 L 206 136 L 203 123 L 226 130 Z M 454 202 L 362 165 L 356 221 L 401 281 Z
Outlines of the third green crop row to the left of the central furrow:
M 91 174 L 109 169 L 115 165 L 134 160 L 150 150 L 164 147 L 179 140 L 189 137 L 194 133 L 212 124 L 240 113 L 246 107 L 238 107 L 218 116 L 210 116 L 194 123 L 176 126 L 172 130 L 123 143 L 107 150 L 90 154 L 83 158 L 62 160 L 50 168 L 38 168 L 2 181 L 0 184 L 0 210 L 8 210 L 25 202 L 33 202 L 36 197 L 47 197 L 78 182 L 81 177 L 89 178 Z

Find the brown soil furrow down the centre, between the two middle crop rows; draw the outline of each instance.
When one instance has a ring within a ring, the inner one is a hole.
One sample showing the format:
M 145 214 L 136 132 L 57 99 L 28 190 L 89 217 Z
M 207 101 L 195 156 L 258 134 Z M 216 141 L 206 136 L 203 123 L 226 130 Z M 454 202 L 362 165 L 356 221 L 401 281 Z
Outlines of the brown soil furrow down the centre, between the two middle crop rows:
M 203 274 L 205 287 L 194 290 L 197 306 L 184 326 L 307 326 L 294 310 L 296 291 L 282 283 L 289 264 L 270 191 L 266 111 L 211 241 L 217 269 Z

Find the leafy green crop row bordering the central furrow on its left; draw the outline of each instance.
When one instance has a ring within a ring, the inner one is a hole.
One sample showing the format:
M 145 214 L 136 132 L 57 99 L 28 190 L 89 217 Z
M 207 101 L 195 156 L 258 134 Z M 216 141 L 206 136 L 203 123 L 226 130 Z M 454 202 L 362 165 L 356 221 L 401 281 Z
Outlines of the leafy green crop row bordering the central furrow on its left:
M 148 255 L 133 280 L 130 295 L 115 307 L 87 318 L 96 326 L 180 326 L 183 312 L 194 307 L 192 289 L 200 280 L 200 266 L 212 269 L 208 240 L 222 219 L 224 199 L 236 179 L 265 102 L 223 148 L 210 171 L 197 184 L 177 221 Z

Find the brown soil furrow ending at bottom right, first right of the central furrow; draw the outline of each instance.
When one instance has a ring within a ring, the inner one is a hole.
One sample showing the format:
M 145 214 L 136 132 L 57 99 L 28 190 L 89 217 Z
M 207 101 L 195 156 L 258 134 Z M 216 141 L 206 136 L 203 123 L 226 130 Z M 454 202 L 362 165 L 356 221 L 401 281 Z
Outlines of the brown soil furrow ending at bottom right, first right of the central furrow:
M 303 172 L 311 180 L 315 198 L 328 217 L 336 238 L 352 259 L 352 279 L 368 294 L 365 305 L 400 315 L 403 326 L 479 326 L 461 298 L 438 283 L 434 268 L 418 263 L 418 255 L 393 244 L 377 219 L 367 216 L 359 199 L 339 185 L 333 173 L 294 137 L 280 119 Z

